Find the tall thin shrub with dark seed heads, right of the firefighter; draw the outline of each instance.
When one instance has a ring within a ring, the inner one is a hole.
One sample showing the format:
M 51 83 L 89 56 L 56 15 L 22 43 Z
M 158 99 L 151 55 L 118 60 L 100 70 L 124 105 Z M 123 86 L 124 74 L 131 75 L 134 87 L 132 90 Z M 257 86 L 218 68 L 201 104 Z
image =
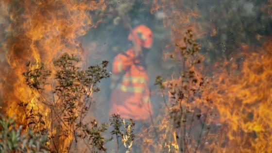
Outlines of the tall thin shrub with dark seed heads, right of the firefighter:
M 143 150 L 154 152 L 150 150 L 153 148 L 155 152 L 196 153 L 200 146 L 203 148 L 209 134 L 211 108 L 209 100 L 202 95 L 207 80 L 201 77 L 197 67 L 202 59 L 198 54 L 199 44 L 191 30 L 185 33 L 183 41 L 185 46 L 176 45 L 180 51 L 170 54 L 170 58 L 177 63 L 178 72 L 174 73 L 177 75 L 172 75 L 169 81 L 164 81 L 162 76 L 156 78 L 155 85 L 160 86 L 165 107 L 157 117 L 157 123 L 145 129 L 152 131 L 154 128 L 154 134 L 150 136 L 158 142 L 153 141 Z

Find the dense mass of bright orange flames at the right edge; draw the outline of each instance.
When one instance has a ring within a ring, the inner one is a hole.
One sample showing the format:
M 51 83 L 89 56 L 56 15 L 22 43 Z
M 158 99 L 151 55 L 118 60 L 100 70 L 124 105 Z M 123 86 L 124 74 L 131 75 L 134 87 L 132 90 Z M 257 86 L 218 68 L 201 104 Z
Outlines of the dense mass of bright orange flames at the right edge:
M 219 122 L 226 125 L 221 135 L 229 139 L 228 152 L 272 152 L 271 40 L 255 50 L 242 45 L 241 53 L 217 64 L 206 90 L 219 111 Z

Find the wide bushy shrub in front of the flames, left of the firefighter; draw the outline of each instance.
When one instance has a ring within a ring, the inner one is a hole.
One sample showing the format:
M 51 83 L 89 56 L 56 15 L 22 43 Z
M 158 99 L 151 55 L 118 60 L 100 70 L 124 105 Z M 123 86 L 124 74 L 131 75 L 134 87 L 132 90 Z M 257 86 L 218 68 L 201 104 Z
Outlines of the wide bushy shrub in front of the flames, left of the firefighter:
M 54 61 L 55 77 L 50 83 L 47 79 L 52 72 L 43 64 L 28 63 L 23 73 L 35 95 L 30 102 L 18 103 L 25 112 L 23 127 L 41 135 L 48 133 L 51 151 L 69 152 L 79 142 L 78 138 L 91 152 L 106 150 L 101 134 L 107 124 L 98 126 L 96 120 L 88 123 L 85 117 L 91 107 L 92 93 L 99 91 L 97 83 L 109 77 L 108 62 L 81 70 L 77 66 L 80 61 L 76 55 L 64 53 Z

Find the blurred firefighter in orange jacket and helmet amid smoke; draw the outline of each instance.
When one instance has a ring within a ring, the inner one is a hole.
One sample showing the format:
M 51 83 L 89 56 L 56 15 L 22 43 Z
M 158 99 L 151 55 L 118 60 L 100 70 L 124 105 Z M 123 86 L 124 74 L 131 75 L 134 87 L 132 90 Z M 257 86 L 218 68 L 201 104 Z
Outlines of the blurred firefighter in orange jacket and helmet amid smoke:
M 124 119 L 145 120 L 152 114 L 148 75 L 144 57 L 153 43 L 152 31 L 145 25 L 132 29 L 129 50 L 119 53 L 113 61 L 110 115 Z

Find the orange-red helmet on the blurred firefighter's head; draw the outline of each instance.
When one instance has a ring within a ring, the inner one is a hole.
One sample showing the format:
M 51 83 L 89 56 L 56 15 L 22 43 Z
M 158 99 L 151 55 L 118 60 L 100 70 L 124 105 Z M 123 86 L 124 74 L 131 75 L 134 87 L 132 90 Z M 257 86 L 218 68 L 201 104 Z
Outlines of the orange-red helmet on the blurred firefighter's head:
M 136 43 L 145 48 L 150 48 L 153 43 L 153 34 L 151 29 L 145 25 L 136 26 L 129 34 L 128 39 L 132 41 L 135 39 Z

